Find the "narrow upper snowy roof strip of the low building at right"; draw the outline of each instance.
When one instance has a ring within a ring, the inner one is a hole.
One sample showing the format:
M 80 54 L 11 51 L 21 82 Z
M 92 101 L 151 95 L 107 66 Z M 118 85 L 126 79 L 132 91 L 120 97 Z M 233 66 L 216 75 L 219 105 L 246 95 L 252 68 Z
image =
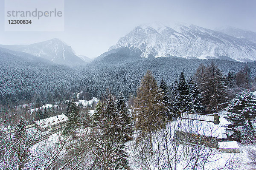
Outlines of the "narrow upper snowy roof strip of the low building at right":
M 180 117 L 183 119 L 194 119 L 207 122 L 214 122 L 213 114 L 180 113 Z

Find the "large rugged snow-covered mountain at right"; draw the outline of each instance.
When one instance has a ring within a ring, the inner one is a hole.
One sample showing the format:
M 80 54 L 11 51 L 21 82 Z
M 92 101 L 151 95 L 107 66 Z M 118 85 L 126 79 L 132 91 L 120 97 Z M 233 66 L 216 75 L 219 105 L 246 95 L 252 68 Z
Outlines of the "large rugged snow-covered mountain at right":
M 255 43 L 195 25 L 143 24 L 121 37 L 109 51 L 120 47 L 137 48 L 141 57 L 256 60 Z

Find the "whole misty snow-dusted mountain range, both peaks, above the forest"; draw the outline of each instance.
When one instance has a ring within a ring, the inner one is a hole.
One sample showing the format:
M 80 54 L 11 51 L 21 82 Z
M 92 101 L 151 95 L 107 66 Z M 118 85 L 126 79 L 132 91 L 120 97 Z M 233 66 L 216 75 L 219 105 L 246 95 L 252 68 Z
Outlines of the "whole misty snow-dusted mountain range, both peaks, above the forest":
M 256 60 L 256 33 L 239 28 L 222 27 L 218 31 L 189 24 L 170 26 L 162 23 L 142 24 L 96 60 L 112 53 L 137 57 L 183 57 L 187 59 Z M 80 65 L 93 59 L 76 55 L 73 49 L 55 38 L 31 45 L 0 45 L 62 65 Z M 125 48 L 129 48 L 127 51 Z

